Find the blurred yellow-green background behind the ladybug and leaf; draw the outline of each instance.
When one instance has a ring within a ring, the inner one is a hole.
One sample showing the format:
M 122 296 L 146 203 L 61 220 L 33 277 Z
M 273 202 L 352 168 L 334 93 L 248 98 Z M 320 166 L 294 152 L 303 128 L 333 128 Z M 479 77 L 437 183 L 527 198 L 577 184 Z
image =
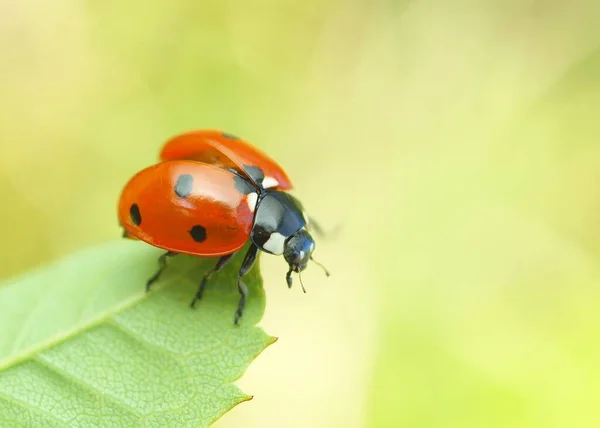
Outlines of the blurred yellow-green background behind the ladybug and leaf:
M 268 151 L 339 233 L 225 427 L 600 426 L 595 0 L 0 1 L 0 275 L 117 239 L 166 138 Z

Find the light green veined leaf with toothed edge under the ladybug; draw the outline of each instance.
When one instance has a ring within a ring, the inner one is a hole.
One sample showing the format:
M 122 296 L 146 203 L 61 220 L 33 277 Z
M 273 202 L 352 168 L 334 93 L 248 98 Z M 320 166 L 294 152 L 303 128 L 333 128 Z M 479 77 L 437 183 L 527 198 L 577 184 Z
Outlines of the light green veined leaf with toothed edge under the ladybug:
M 144 292 L 161 250 L 119 241 L 0 285 L 0 426 L 207 426 L 251 397 L 235 385 L 274 338 L 255 327 L 258 263 L 233 324 L 240 257 L 177 256 Z

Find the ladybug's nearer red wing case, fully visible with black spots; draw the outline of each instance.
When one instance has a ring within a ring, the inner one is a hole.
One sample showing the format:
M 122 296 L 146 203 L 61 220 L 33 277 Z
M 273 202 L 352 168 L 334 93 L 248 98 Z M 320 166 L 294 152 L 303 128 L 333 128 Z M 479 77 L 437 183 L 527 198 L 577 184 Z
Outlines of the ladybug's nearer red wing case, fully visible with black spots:
M 238 175 L 213 165 L 161 162 L 129 181 L 119 201 L 119 221 L 128 237 L 168 251 L 230 254 L 248 241 L 254 219 L 253 201 L 240 184 Z M 247 192 L 254 189 L 248 185 Z

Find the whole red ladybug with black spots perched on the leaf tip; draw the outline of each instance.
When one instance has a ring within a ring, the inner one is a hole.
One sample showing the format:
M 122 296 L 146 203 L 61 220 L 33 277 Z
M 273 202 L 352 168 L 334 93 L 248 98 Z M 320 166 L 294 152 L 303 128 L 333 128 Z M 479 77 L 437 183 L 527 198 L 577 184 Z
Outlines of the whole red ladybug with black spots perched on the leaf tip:
M 309 219 L 300 201 L 287 193 L 292 188 L 289 177 L 265 153 L 230 134 L 199 130 L 168 140 L 160 160 L 129 180 L 118 204 L 126 238 L 166 250 L 159 258 L 158 271 L 146 284 L 147 291 L 171 256 L 218 257 L 200 281 L 190 304 L 194 307 L 211 276 L 248 242 L 238 272 L 235 324 L 248 296 L 242 279 L 259 250 L 283 255 L 290 288 L 292 273 L 300 275 L 309 261 L 329 276 L 312 256 L 315 241 L 310 232 L 322 234 L 321 228 Z M 302 290 L 306 292 L 303 285 Z

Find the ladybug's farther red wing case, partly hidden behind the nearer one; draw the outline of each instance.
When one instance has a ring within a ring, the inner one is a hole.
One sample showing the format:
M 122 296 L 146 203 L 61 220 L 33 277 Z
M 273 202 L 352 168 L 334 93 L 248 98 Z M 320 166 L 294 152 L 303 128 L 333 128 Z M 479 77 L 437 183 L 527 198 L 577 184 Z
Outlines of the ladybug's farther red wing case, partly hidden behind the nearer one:
M 264 174 L 266 189 L 290 190 L 292 182 L 283 168 L 264 152 L 249 142 L 218 130 L 196 130 L 169 139 L 160 152 L 163 161 L 190 159 L 222 168 L 233 168 L 251 181 L 248 167 L 255 167 Z

